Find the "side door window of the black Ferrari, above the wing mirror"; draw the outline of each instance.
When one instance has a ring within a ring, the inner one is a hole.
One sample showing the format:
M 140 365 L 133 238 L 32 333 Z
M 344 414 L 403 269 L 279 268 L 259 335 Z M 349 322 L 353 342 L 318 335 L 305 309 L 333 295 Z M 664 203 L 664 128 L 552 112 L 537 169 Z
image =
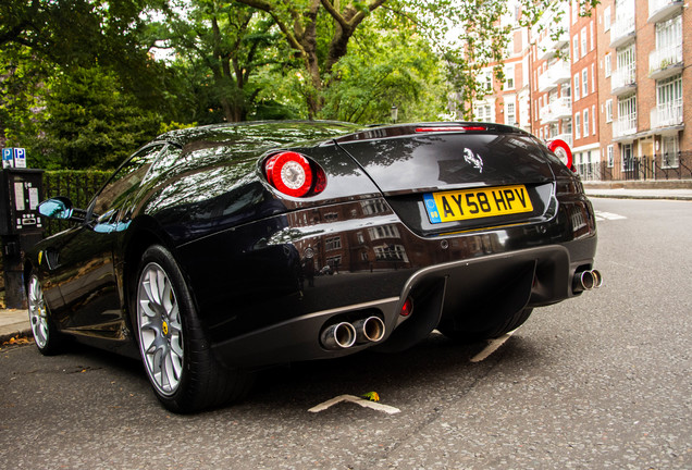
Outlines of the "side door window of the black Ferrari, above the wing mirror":
M 145 147 L 132 156 L 114 174 L 91 202 L 91 218 L 108 217 L 132 196 L 159 154 L 163 144 Z

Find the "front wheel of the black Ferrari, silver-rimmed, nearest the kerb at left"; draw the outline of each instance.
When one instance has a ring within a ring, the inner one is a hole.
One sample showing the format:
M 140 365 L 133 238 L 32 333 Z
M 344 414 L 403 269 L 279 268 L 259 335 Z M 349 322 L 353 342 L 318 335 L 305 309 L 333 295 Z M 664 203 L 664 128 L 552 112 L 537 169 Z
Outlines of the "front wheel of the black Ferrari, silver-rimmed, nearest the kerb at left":
M 36 347 L 45 356 L 59 354 L 63 349 L 64 336 L 58 331 L 55 323 L 50 317 L 50 311 L 44 298 L 44 288 L 38 281 L 38 276 L 34 273 L 29 274 L 26 298 L 29 324 L 32 325 Z

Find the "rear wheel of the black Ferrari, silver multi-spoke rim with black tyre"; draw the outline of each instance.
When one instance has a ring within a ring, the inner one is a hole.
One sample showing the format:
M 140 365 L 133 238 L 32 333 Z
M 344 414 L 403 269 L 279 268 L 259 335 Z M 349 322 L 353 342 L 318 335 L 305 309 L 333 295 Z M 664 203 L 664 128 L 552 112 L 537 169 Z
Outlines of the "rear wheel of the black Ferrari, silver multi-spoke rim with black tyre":
M 227 369 L 215 358 L 187 283 L 168 249 L 153 245 L 145 251 L 132 294 L 141 360 L 165 408 L 198 411 L 238 399 L 249 389 L 246 371 Z

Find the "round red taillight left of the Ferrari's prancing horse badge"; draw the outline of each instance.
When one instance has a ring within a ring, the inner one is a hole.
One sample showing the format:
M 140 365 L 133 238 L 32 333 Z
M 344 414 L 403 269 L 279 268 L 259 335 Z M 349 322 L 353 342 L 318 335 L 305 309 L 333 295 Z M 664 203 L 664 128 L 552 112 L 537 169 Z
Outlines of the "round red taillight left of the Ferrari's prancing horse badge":
M 269 183 L 287 196 L 307 195 L 314 182 L 318 193 L 324 189 L 324 173 L 313 171 L 310 161 L 300 153 L 285 151 L 270 157 L 264 163 L 264 172 Z

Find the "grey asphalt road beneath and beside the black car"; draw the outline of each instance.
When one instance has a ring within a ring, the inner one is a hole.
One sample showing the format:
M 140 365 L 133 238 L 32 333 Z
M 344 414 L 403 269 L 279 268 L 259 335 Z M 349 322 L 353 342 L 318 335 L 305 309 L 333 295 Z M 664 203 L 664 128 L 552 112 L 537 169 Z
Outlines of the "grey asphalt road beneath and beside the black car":
M 181 417 L 136 361 L 0 350 L 0 468 L 692 468 L 692 202 L 594 199 L 605 286 L 534 311 L 497 351 L 438 334 L 396 356 L 267 371 Z M 378 392 L 388 415 L 342 403 Z

